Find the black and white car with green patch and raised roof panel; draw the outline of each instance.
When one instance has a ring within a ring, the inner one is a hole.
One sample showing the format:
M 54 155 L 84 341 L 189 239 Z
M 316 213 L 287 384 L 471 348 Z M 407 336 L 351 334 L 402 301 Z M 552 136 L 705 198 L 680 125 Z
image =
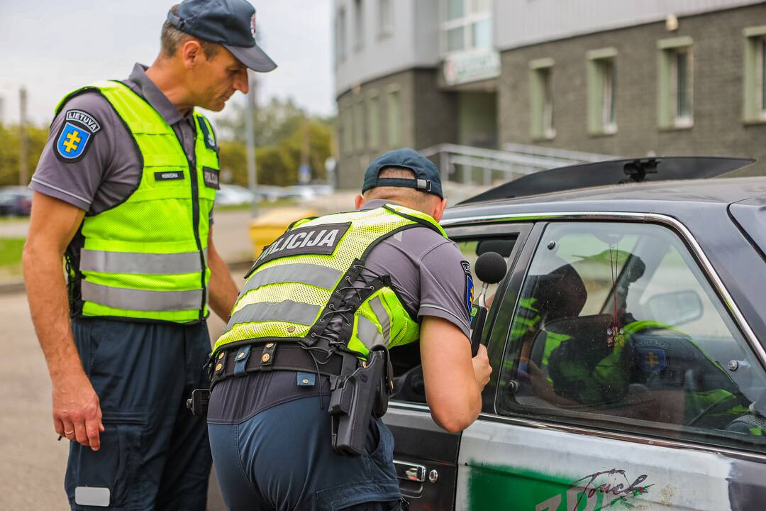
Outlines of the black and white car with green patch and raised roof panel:
M 764 509 L 766 178 L 688 179 L 748 163 L 578 165 L 447 210 L 472 267 L 507 272 L 465 431 L 431 420 L 417 349 L 398 357 L 384 421 L 411 509 Z

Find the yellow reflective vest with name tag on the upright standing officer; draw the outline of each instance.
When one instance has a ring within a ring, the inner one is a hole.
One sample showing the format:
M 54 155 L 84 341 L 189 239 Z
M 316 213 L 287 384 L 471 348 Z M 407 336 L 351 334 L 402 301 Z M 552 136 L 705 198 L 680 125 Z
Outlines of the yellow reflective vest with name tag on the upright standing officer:
M 208 120 L 195 111 L 195 165 L 165 119 L 129 87 L 102 81 L 136 142 L 141 180 L 125 201 L 86 215 L 67 248 L 70 302 L 81 316 L 192 323 L 208 315 L 210 211 L 218 188 L 218 152 Z

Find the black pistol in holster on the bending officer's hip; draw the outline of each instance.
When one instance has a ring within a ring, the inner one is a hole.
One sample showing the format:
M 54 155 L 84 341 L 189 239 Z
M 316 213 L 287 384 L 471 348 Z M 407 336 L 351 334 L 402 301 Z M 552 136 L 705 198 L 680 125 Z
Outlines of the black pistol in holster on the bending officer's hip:
M 385 346 L 373 346 L 367 364 L 350 375 L 330 378 L 328 411 L 332 418 L 332 449 L 336 453 L 362 454 L 370 421 L 388 410 L 393 385 L 393 369 Z

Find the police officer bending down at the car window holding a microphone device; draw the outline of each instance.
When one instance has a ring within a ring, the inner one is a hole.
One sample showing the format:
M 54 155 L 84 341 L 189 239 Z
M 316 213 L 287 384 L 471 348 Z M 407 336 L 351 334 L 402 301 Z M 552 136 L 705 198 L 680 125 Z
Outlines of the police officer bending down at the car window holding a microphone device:
M 229 509 L 400 509 L 393 437 L 369 411 L 385 411 L 386 348 L 420 339 L 441 427 L 480 412 L 492 369 L 483 347 L 471 359 L 468 267 L 437 224 L 436 166 L 387 152 L 362 192 L 358 211 L 299 221 L 264 250 L 215 343 L 208 431 Z M 372 374 L 378 399 L 349 430 Z

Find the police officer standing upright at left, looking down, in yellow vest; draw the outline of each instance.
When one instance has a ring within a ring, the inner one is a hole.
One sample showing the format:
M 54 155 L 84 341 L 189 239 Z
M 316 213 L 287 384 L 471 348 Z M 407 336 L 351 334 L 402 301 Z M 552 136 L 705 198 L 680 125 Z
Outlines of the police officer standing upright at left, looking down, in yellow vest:
M 211 236 L 218 141 L 195 106 L 222 110 L 248 67 L 276 67 L 254 27 L 245 0 L 185 0 L 151 67 L 56 108 L 24 271 L 72 509 L 205 509 L 207 431 L 185 398 L 208 384 L 208 305 L 228 319 L 237 288 Z

